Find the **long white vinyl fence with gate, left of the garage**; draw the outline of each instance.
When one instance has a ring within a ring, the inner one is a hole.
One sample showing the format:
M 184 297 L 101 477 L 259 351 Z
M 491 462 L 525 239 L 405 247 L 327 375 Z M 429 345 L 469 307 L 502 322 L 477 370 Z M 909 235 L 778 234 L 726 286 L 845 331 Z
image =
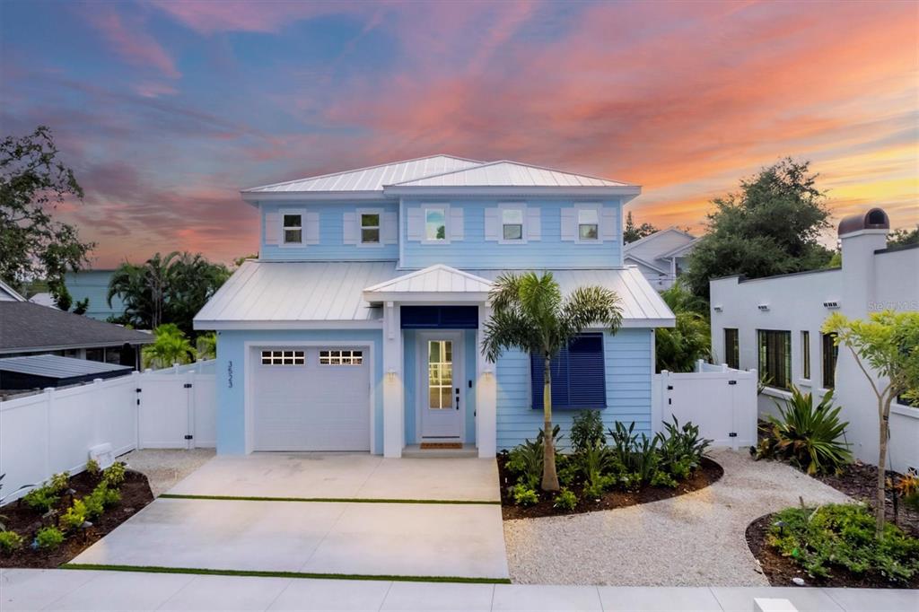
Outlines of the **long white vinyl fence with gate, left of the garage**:
M 83 470 L 99 444 L 116 456 L 216 446 L 215 378 L 213 363 L 200 362 L 0 402 L 0 503 L 53 473 Z

